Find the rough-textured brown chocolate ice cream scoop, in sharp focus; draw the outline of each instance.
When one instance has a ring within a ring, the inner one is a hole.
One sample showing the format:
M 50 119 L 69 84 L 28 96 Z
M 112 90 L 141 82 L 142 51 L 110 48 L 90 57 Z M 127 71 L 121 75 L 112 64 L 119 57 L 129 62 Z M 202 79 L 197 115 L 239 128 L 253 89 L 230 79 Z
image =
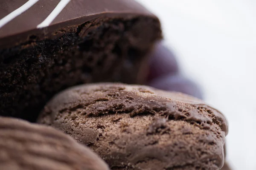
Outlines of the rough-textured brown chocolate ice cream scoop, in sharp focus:
M 99 83 L 53 97 L 38 122 L 70 134 L 112 170 L 219 170 L 227 120 L 200 99 Z

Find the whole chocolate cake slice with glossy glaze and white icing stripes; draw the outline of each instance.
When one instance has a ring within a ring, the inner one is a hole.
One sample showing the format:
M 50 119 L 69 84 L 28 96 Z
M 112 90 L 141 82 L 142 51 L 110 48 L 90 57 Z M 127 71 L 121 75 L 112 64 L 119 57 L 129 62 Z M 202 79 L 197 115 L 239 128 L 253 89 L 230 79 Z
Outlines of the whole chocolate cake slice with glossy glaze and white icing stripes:
M 160 22 L 134 0 L 2 0 L 0 115 L 35 120 L 56 92 L 142 83 Z

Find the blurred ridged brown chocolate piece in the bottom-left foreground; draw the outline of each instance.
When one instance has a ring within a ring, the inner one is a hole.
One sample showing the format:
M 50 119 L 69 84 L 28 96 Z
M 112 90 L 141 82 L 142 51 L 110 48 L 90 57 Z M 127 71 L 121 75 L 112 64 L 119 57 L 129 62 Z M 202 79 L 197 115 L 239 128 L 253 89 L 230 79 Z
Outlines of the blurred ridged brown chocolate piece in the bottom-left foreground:
M 108 170 L 108 165 L 52 127 L 0 117 L 0 170 Z

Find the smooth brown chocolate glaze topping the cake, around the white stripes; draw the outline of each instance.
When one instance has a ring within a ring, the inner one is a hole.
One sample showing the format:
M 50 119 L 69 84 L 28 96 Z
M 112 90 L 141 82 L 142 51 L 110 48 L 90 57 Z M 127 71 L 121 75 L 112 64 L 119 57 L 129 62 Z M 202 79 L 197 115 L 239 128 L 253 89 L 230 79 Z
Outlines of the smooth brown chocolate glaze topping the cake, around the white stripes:
M 58 29 L 80 25 L 97 17 L 134 17 L 150 15 L 149 11 L 134 0 L 71 0 L 48 27 L 36 28 L 43 22 L 60 0 L 39 0 L 0 28 L 0 48 L 7 48 L 29 41 L 51 38 Z M 26 0 L 0 2 L 0 19 L 26 3 Z

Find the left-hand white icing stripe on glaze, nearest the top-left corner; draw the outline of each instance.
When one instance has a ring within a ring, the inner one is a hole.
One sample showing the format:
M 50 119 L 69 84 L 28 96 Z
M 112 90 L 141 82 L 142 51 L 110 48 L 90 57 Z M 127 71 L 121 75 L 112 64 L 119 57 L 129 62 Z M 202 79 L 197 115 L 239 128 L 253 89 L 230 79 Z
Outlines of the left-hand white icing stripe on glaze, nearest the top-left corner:
M 31 6 L 33 6 L 37 2 L 38 0 L 29 0 L 28 2 L 24 3 L 23 6 L 20 6 L 20 8 L 17 8 L 15 11 L 12 11 L 10 14 L 3 17 L 0 20 L 0 28 L 6 25 L 6 23 L 13 20 L 15 17 L 19 16 L 20 14 L 28 10 Z

